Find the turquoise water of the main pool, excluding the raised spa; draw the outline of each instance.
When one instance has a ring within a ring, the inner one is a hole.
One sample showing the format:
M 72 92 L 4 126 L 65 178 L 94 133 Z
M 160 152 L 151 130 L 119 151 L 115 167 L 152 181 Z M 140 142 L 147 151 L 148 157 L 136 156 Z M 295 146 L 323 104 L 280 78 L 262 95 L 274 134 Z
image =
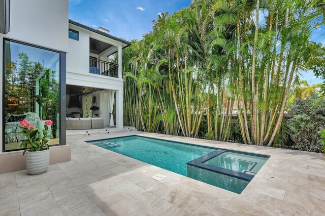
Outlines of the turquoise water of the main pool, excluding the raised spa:
M 116 143 L 120 146 L 107 145 Z M 215 149 L 139 136 L 90 142 L 102 148 L 187 176 L 186 163 Z

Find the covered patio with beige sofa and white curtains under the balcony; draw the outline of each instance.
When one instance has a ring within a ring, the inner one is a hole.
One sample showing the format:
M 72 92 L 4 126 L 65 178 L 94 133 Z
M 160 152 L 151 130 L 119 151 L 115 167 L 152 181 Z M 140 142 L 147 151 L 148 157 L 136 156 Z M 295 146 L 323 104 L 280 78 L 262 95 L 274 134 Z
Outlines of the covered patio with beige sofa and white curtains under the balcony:
M 66 129 L 103 129 L 119 125 L 116 122 L 115 90 L 67 85 Z M 116 122 L 116 124 L 115 124 Z

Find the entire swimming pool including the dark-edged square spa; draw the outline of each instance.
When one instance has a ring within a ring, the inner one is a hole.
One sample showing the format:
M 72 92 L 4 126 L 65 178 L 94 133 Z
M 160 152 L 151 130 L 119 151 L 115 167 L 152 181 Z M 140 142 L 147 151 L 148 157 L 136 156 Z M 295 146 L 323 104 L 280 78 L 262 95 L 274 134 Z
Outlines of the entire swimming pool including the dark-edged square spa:
M 239 194 L 269 158 L 136 135 L 88 143 Z

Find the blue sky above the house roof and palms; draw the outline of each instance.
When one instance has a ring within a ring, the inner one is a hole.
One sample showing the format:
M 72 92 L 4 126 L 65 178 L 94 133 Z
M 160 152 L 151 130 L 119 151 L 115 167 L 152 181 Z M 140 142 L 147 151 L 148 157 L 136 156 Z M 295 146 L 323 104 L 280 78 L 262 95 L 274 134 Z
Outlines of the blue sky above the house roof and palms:
M 158 13 L 173 14 L 187 7 L 191 0 L 69 0 L 69 18 L 93 28 L 102 26 L 110 34 L 127 40 L 141 39 L 151 30 Z M 325 28 L 314 30 L 312 40 L 325 45 Z M 310 83 L 322 82 L 312 71 L 303 72 Z

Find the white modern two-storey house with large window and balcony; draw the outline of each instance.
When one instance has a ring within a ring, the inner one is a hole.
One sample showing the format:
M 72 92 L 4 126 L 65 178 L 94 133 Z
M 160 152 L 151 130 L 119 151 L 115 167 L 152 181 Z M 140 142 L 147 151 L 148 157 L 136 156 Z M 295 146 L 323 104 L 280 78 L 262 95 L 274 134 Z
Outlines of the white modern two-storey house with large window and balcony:
M 0 174 L 25 168 L 22 119 L 39 127 L 53 121 L 50 163 L 71 159 L 68 125 L 122 129 L 122 49 L 130 43 L 69 20 L 69 0 L 0 4 L 0 164 L 8 164 Z

